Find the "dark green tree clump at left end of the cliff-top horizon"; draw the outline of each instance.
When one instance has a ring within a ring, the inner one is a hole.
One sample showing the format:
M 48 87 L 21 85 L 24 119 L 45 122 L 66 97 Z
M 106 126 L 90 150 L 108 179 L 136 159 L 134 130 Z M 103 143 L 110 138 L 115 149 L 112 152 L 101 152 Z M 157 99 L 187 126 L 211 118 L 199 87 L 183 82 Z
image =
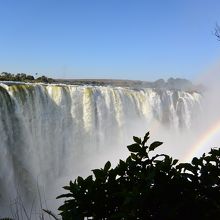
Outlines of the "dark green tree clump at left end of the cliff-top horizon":
M 40 76 L 35 79 L 34 76 L 26 75 L 25 73 L 12 74 L 8 72 L 2 72 L 0 74 L 0 81 L 43 82 L 43 83 L 55 82 L 54 79 L 47 78 L 46 76 Z

